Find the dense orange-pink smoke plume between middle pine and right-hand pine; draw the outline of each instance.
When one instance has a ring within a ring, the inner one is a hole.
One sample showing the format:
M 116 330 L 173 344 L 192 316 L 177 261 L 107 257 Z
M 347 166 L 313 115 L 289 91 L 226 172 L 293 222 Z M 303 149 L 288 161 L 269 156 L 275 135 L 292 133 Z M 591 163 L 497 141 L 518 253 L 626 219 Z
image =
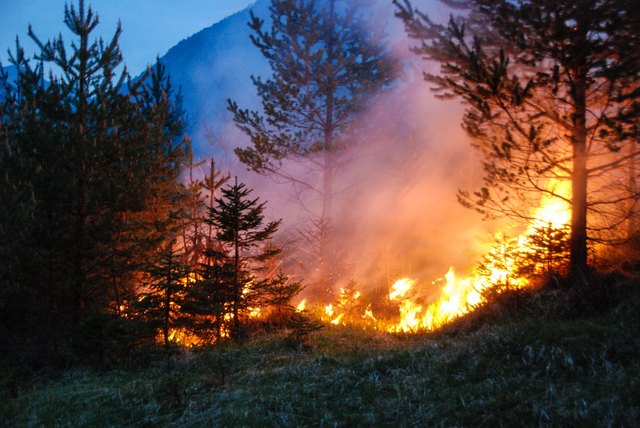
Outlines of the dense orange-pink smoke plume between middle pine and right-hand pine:
M 335 216 L 337 236 L 359 283 L 433 280 L 451 265 L 466 270 L 485 234 L 479 215 L 456 198 L 481 179 L 459 125 L 461 108 L 434 99 L 416 69 L 408 73 L 366 117 L 387 129 L 370 125 L 377 132 L 341 175 L 341 187 L 354 190 Z

